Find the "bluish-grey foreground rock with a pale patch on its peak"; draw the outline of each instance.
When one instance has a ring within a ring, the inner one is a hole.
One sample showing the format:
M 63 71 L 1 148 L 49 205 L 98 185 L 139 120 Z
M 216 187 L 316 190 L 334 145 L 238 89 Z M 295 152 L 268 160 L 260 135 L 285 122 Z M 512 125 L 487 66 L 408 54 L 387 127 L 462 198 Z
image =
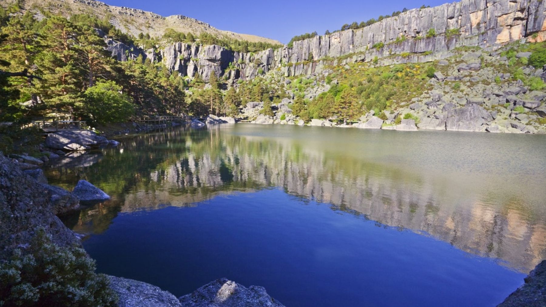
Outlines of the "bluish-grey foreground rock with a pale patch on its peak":
M 263 287 L 246 288 L 225 278 L 212 281 L 195 292 L 181 297 L 180 303 L 188 307 L 284 306 L 270 297 Z

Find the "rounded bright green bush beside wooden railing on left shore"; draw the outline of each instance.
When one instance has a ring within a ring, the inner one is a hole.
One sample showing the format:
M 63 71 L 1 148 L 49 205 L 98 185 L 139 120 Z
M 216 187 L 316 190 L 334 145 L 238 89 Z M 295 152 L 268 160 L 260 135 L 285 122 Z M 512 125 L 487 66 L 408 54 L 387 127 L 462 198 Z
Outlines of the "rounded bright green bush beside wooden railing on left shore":
M 97 82 L 85 91 L 82 111 L 99 124 L 127 121 L 134 113 L 134 106 L 121 90 L 114 81 Z

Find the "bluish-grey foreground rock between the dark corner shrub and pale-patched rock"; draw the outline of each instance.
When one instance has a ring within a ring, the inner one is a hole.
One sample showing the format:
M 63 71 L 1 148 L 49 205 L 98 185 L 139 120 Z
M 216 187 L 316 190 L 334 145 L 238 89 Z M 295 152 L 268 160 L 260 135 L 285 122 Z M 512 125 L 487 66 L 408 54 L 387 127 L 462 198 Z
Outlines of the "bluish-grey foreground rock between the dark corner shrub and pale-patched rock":
M 120 307 L 178 307 L 179 300 L 161 288 L 127 278 L 108 276 L 110 287 L 117 293 Z

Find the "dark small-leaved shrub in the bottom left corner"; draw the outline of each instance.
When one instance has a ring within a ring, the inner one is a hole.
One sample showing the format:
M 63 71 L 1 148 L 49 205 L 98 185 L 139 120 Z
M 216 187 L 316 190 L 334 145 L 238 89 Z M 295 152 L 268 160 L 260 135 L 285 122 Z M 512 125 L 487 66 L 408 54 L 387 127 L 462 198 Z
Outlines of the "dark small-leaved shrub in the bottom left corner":
M 0 263 L 1 306 L 116 306 L 117 296 L 84 249 L 61 248 L 43 230 Z

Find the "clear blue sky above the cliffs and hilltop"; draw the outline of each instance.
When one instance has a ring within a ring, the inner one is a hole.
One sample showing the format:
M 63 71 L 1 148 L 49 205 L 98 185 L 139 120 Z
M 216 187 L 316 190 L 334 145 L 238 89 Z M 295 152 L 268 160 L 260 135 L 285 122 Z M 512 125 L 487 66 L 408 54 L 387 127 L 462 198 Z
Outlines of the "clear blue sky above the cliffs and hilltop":
M 185 15 L 222 30 L 247 33 L 288 43 L 294 35 L 324 34 L 344 23 L 366 21 L 403 8 L 434 7 L 447 0 L 102 0 L 111 5 L 153 11 L 159 15 Z

